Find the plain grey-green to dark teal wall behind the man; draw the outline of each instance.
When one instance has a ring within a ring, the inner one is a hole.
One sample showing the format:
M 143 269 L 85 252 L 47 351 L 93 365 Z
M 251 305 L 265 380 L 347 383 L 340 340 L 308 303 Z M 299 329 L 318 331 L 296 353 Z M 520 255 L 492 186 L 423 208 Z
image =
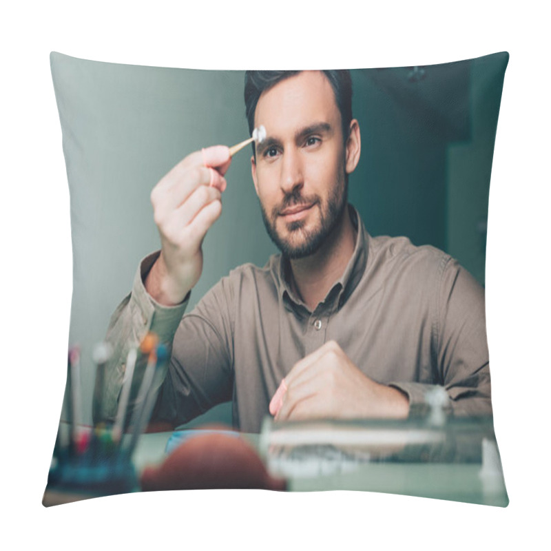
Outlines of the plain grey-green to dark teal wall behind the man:
M 92 349 L 158 249 L 149 193 L 189 152 L 247 138 L 243 72 L 171 70 L 52 54 L 70 185 L 74 287 L 70 344 L 81 345 L 85 421 Z M 471 63 L 354 71 L 362 157 L 350 200 L 373 235 L 406 235 L 456 256 L 484 283 L 488 189 L 506 54 Z M 501 75 L 501 76 L 500 76 Z M 191 306 L 242 262 L 263 265 L 267 237 L 250 149 L 227 175 L 223 214 L 204 242 Z M 473 167 L 475 170 L 473 171 Z M 231 423 L 227 405 L 198 419 Z

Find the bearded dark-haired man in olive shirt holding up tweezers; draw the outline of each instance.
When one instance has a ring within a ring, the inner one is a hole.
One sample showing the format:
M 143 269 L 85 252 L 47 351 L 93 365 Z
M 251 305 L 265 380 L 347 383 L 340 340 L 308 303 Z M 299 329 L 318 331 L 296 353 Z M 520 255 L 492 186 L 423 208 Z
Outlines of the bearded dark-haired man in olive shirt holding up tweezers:
M 154 416 L 173 426 L 231 400 L 233 423 L 422 413 L 443 386 L 457 415 L 491 415 L 484 292 L 455 260 L 406 238 L 372 238 L 347 202 L 360 159 L 348 72 L 247 72 L 251 171 L 282 251 L 245 264 L 184 315 L 201 244 L 222 212 L 229 149 L 187 156 L 152 191 L 160 253 L 141 264 L 112 318 L 114 417 L 129 346 L 173 342 Z M 278 388 L 280 390 L 278 391 Z M 276 394 L 276 391 L 277 394 Z

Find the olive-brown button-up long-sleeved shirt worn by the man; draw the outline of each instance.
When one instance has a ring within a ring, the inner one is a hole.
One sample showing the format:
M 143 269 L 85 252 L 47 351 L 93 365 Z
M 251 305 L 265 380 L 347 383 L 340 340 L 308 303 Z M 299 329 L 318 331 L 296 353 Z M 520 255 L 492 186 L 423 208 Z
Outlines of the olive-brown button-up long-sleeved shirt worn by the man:
M 456 260 L 407 238 L 359 231 L 342 277 L 313 312 L 291 291 L 280 254 L 264 268 L 244 264 L 183 315 L 157 304 L 143 280 L 158 253 L 145 258 L 132 293 L 115 311 L 107 340 L 104 417 L 113 418 L 129 346 L 147 331 L 174 344 L 154 417 L 174 426 L 231 400 L 233 424 L 258 433 L 280 382 L 296 362 L 335 340 L 371 379 L 408 395 L 410 415 L 444 386 L 455 415 L 491 415 L 484 290 Z

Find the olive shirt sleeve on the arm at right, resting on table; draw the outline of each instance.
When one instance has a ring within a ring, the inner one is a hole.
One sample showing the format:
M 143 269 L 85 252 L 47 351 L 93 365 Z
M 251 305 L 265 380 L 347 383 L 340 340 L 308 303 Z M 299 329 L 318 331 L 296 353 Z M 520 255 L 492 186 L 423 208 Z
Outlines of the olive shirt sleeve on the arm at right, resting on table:
M 429 393 L 436 385 L 448 393 L 448 413 L 492 415 L 484 289 L 453 258 L 439 273 L 433 312 L 431 349 L 437 380 L 391 386 L 408 395 L 410 415 L 427 413 Z

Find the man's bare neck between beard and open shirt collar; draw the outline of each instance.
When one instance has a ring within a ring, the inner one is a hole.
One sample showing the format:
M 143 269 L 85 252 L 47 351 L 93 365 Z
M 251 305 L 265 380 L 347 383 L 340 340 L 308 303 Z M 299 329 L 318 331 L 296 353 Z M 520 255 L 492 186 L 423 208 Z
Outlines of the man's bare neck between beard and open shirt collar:
M 291 288 L 313 311 L 326 297 L 352 257 L 356 230 L 346 208 L 342 220 L 313 255 L 290 260 Z

